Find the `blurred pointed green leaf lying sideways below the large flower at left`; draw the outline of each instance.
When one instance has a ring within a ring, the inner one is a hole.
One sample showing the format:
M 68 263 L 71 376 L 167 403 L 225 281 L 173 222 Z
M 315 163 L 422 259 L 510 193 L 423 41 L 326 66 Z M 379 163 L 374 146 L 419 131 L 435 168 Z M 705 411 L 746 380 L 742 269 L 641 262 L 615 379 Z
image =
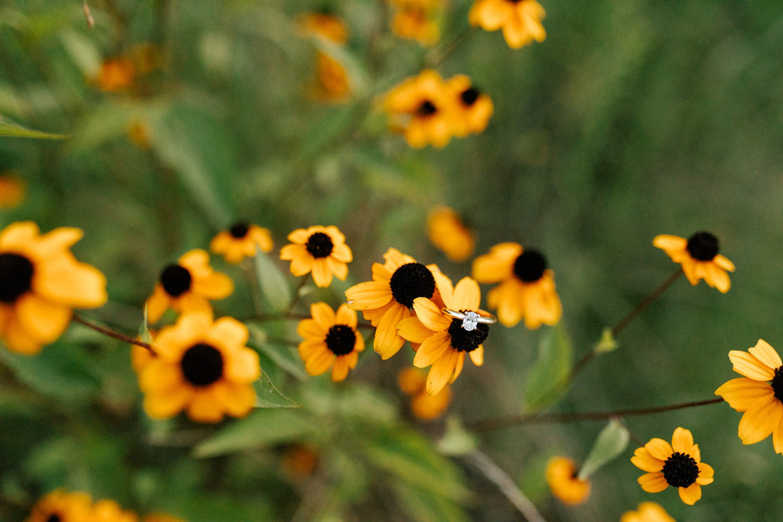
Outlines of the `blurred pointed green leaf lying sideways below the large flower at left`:
M 314 437 L 320 427 L 305 411 L 287 408 L 254 410 L 193 448 L 197 458 L 215 457 Z

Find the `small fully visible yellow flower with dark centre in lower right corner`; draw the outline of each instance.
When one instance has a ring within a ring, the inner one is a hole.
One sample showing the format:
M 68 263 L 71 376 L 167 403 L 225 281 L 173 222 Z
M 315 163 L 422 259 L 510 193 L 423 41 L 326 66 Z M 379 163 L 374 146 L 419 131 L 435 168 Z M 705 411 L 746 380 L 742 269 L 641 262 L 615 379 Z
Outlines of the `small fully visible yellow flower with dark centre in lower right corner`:
M 713 483 L 713 468 L 702 462 L 698 444 L 689 430 L 677 428 L 672 444 L 654 438 L 633 452 L 631 462 L 645 473 L 639 484 L 648 493 L 659 493 L 669 486 L 678 488 L 680 498 L 689 506 L 702 498 L 702 486 Z

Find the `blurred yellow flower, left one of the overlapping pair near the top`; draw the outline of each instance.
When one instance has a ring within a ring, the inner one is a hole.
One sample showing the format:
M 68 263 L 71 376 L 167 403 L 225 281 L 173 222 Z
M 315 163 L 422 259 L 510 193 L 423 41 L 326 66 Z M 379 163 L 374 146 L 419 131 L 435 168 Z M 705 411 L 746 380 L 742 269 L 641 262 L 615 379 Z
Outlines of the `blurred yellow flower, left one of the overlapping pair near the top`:
M 443 78 L 431 69 L 407 78 L 387 92 L 384 109 L 392 127 L 402 130 L 411 147 L 419 149 L 428 143 L 446 147 L 451 140 L 453 100 Z

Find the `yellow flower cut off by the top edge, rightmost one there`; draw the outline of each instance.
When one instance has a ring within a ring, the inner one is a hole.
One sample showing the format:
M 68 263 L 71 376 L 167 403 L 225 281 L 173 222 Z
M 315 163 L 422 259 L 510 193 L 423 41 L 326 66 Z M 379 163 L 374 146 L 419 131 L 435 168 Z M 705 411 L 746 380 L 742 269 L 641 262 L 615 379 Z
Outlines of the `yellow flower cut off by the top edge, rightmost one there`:
M 546 12 L 536 0 L 476 0 L 467 14 L 471 25 L 485 31 L 503 29 L 503 38 L 511 49 L 519 49 L 533 40 L 547 38 L 541 20 Z

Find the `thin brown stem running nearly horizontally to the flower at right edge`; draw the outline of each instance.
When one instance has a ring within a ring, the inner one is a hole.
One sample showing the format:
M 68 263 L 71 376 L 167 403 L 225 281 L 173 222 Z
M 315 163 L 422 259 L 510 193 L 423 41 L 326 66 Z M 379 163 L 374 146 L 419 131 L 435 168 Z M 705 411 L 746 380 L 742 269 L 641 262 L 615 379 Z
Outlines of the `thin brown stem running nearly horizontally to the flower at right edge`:
M 723 402 L 723 397 L 707 399 L 705 401 L 681 402 L 678 404 L 668 404 L 666 406 L 656 406 L 655 408 L 632 408 L 627 410 L 612 411 L 584 411 L 582 413 L 532 413 L 529 415 L 511 415 L 509 417 L 500 417 L 496 419 L 485 419 L 474 422 L 466 422 L 465 427 L 474 431 L 500 430 L 511 426 L 521 426 L 523 424 L 547 424 L 559 422 L 589 422 L 612 419 L 612 417 L 634 417 L 640 415 L 651 415 L 662 413 L 663 411 L 682 410 L 684 408 L 695 408 L 696 406 L 705 406 L 706 404 L 717 404 Z

